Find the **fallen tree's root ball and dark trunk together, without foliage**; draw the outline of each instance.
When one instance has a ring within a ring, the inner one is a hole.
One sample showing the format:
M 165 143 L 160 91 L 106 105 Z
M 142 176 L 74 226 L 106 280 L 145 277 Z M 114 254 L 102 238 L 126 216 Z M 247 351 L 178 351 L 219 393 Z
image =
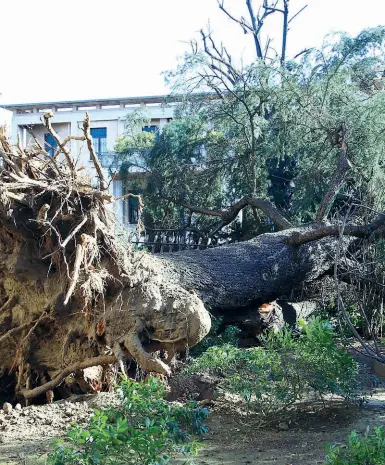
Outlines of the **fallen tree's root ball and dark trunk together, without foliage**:
M 267 206 L 281 231 L 160 257 L 133 250 L 115 234 L 108 205 L 116 200 L 93 150 L 88 116 L 84 140 L 98 189 L 76 166 L 70 138 L 61 141 L 53 130 L 52 116 L 43 118 L 57 140 L 52 158 L 37 140 L 23 150 L 0 138 L 0 373 L 8 392 L 28 400 L 87 367 L 119 362 L 124 371 L 128 358 L 168 375 L 175 352 L 209 332 L 209 310 L 251 306 L 257 314 L 259 304 L 333 269 L 338 224 L 295 228 L 269 201 L 252 197 L 244 207 Z M 370 224 L 345 225 L 344 247 L 358 247 L 384 222 L 380 214 Z M 163 359 L 153 354 L 160 350 Z

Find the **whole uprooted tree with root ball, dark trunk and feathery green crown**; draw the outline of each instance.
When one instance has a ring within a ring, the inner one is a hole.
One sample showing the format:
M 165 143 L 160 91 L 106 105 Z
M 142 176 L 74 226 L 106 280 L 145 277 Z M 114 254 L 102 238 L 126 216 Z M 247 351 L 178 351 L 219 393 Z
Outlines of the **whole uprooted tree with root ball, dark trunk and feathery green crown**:
M 87 367 L 119 362 L 124 370 L 128 359 L 167 375 L 174 353 L 208 333 L 209 312 L 256 314 L 263 302 L 314 292 L 333 276 L 336 253 L 348 263 L 368 240 L 381 239 L 384 31 L 306 52 L 301 63 L 282 56 L 270 63 L 269 48 L 260 56 L 264 17 L 255 18 L 254 25 L 241 21 L 259 44 L 258 61 L 244 70 L 202 33 L 203 55 L 195 48 L 179 76 L 198 64 L 188 82 L 200 79 L 217 97 L 187 99 L 154 146 L 144 140 L 148 163 L 140 164 L 152 183 L 144 197 L 152 213 L 156 202 L 163 216 L 175 217 L 170 205 L 182 208 L 188 227 L 213 238 L 243 211 L 257 225 L 254 239 L 168 256 L 134 250 L 116 234 L 109 205 L 121 200 L 108 192 L 88 117 L 82 139 L 98 189 L 74 162 L 71 138 L 55 133 L 52 114 L 43 117 L 57 142 L 52 158 L 38 140 L 23 149 L 1 136 L 3 392 L 28 400 L 63 388 Z M 135 164 L 137 142 L 119 142 L 125 166 Z M 290 160 L 298 165 L 296 188 L 280 203 L 268 179 L 274 163 L 284 169 Z M 257 235 L 271 224 L 275 232 Z

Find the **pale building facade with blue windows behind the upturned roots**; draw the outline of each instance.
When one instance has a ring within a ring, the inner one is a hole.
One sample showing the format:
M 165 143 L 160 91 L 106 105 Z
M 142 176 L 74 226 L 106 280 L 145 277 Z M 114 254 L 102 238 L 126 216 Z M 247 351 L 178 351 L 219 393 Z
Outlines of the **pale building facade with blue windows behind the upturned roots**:
M 161 131 L 173 118 L 178 100 L 180 99 L 175 96 L 150 96 L 10 104 L 2 105 L 2 108 L 13 113 L 11 138 L 14 143 L 20 138 L 23 148 L 26 148 L 34 143 L 34 138 L 36 138 L 50 155 L 56 151 L 56 142 L 42 124 L 43 114 L 48 110 L 53 112 L 52 126 L 61 140 L 64 140 L 68 136 L 83 135 L 82 122 L 88 111 L 95 150 L 99 155 L 106 178 L 110 178 L 112 194 L 120 197 L 123 195 L 122 181 L 116 174 L 114 179 L 111 179 L 113 172 L 111 166 L 116 158 L 114 145 L 117 138 L 124 134 L 127 115 L 141 108 L 150 123 L 138 130 Z M 77 157 L 77 166 L 84 167 L 91 180 L 95 180 L 96 183 L 96 170 L 90 160 L 86 143 L 71 140 L 70 148 L 72 155 Z M 114 205 L 119 222 L 128 229 L 132 229 L 136 221 L 134 208 L 135 206 L 129 200 L 122 200 Z

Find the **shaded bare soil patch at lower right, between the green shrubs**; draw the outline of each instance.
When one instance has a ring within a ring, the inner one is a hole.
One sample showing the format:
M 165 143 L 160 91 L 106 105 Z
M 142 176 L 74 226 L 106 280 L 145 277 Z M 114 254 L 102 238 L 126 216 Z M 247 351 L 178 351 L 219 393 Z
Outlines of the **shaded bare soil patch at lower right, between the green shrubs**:
M 321 406 L 317 406 L 321 408 Z M 222 406 L 209 419 L 210 431 L 203 441 L 197 465 L 314 465 L 323 464 L 327 443 L 345 444 L 354 429 L 385 425 L 385 391 L 377 391 L 362 407 L 329 402 L 325 409 L 310 408 L 291 422 L 258 428 L 253 418 Z M 283 431 L 278 427 L 289 427 Z

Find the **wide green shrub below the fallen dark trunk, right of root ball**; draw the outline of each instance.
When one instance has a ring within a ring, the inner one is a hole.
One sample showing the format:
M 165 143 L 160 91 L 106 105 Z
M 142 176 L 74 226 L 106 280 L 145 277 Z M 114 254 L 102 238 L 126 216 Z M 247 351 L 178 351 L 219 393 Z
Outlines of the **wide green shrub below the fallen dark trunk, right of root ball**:
M 265 347 L 210 347 L 186 373 L 210 371 L 219 375 L 221 388 L 240 395 L 247 410 L 255 410 L 264 421 L 310 392 L 321 398 L 325 394 L 356 398 L 357 363 L 338 346 L 331 325 L 313 319 L 301 326 L 299 338 L 284 329 L 264 338 Z

